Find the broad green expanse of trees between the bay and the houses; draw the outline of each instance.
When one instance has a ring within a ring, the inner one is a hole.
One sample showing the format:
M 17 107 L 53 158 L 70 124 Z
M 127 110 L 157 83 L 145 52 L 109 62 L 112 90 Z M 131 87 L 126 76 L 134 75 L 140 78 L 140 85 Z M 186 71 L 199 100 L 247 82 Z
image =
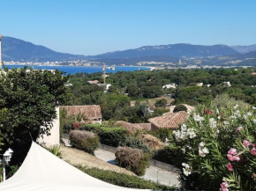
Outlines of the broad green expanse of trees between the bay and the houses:
M 102 72 L 72 75 L 70 79 L 70 99 L 66 105 L 97 104 L 102 107 L 103 119 L 146 122 L 149 117 L 164 113 L 164 101 L 157 101 L 154 113 L 149 113 L 150 99 L 168 95 L 174 99 L 172 104 L 181 103 L 195 106 L 207 103 L 222 93 L 232 98 L 242 99 L 249 104 L 256 104 L 255 69 L 211 69 L 211 70 L 156 70 L 110 73 L 107 83 L 112 84 L 108 93 L 88 80 L 97 79 L 102 83 Z M 230 82 L 231 86 L 224 84 Z M 162 85 L 175 83 L 176 89 L 162 89 Z M 203 86 L 197 86 L 203 83 Z M 207 84 L 210 84 L 207 87 Z M 131 107 L 131 100 L 136 100 Z M 168 105 L 168 104 L 167 104 Z

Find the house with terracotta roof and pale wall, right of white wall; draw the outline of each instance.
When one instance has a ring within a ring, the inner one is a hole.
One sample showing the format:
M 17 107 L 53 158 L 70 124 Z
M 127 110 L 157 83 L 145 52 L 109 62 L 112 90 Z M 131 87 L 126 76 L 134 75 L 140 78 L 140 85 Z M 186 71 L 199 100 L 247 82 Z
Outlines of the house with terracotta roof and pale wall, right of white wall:
M 77 114 L 83 115 L 83 120 L 80 122 L 88 123 L 100 123 L 102 124 L 102 110 L 99 105 L 90 105 L 90 106 L 62 106 L 61 110 L 66 111 L 66 116 L 73 116 Z

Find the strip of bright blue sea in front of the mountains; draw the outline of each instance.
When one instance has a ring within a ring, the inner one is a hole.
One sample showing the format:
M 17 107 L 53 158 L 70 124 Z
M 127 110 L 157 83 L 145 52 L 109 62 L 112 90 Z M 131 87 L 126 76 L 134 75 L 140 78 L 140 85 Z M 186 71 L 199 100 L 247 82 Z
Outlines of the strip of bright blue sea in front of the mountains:
M 24 68 L 25 65 L 5 65 L 5 67 L 9 69 L 13 68 Z M 99 71 L 103 71 L 102 67 L 94 67 L 94 66 L 44 66 L 44 65 L 28 65 L 28 67 L 34 69 L 41 70 L 61 70 L 65 72 L 65 74 L 76 74 L 80 72 L 86 73 L 95 73 Z M 115 70 L 108 69 L 107 73 L 116 73 L 117 71 L 136 71 L 136 70 L 150 70 L 148 67 L 139 67 L 139 66 L 116 66 Z

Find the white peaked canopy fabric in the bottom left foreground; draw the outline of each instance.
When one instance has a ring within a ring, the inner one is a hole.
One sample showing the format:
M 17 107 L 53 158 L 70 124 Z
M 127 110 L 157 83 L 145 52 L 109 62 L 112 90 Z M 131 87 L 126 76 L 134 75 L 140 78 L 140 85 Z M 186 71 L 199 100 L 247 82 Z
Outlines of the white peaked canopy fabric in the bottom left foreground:
M 32 143 L 19 171 L 0 183 L 1 191 L 115 191 L 140 190 L 117 187 L 97 180 Z

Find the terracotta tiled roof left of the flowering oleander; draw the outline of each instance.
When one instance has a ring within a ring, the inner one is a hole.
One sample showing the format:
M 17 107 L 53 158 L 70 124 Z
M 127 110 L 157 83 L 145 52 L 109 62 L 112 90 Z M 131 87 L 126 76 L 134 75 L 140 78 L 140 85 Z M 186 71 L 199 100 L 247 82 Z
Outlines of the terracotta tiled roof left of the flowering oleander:
M 167 113 L 162 116 L 149 119 L 159 129 L 177 129 L 179 124 L 184 123 L 188 117 L 186 112 Z

